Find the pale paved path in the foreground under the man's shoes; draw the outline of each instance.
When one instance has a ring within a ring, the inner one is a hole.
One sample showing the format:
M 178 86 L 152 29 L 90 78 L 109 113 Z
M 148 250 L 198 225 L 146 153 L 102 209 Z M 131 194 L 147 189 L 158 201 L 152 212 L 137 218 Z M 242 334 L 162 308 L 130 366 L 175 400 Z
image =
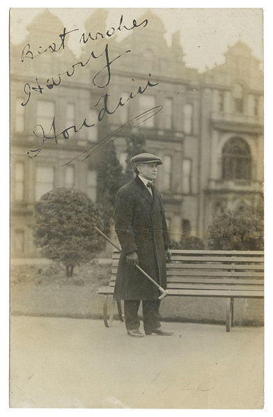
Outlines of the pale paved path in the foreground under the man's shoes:
M 263 329 L 164 323 L 174 336 L 127 336 L 123 323 L 11 317 L 10 406 L 260 409 Z

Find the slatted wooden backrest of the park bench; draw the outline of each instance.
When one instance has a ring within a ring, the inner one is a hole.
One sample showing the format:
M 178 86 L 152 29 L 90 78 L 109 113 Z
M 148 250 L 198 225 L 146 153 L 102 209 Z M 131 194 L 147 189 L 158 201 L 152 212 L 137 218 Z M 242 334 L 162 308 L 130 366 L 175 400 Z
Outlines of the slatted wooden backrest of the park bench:
M 168 289 L 263 290 L 263 251 L 172 250 Z M 114 251 L 110 286 L 115 285 L 120 253 Z

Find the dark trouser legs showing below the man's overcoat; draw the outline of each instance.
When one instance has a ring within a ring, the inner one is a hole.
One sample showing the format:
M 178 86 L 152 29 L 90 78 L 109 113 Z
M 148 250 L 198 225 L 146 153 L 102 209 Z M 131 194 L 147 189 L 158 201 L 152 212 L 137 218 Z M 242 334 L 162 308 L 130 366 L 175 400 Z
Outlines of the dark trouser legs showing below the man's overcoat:
M 159 299 L 142 301 L 144 331 L 153 331 L 161 326 L 159 322 Z M 124 315 L 126 329 L 139 329 L 139 300 L 124 300 Z

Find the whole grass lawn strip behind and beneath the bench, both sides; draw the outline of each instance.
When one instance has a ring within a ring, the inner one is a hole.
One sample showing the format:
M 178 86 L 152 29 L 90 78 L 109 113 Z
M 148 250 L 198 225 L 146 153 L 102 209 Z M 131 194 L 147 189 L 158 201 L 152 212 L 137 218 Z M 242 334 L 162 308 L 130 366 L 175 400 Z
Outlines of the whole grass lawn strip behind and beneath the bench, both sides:
M 98 288 L 108 285 L 110 276 L 111 264 L 75 267 L 70 278 L 65 276 L 64 267 L 54 262 L 13 265 L 10 311 L 16 315 L 102 318 L 103 296 L 98 294 Z M 162 320 L 224 324 L 226 300 L 166 297 L 160 311 Z M 235 300 L 235 322 L 237 325 L 263 325 L 263 300 Z

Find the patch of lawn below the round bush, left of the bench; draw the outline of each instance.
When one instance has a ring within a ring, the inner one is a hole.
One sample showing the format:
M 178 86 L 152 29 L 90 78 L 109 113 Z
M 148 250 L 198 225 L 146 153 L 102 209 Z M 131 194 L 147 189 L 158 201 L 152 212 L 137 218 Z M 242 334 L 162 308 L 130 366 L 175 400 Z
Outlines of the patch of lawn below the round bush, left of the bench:
M 10 311 L 17 315 L 102 317 L 98 288 L 110 280 L 111 265 L 75 267 L 72 277 L 52 262 L 49 265 L 14 265 L 10 268 Z

